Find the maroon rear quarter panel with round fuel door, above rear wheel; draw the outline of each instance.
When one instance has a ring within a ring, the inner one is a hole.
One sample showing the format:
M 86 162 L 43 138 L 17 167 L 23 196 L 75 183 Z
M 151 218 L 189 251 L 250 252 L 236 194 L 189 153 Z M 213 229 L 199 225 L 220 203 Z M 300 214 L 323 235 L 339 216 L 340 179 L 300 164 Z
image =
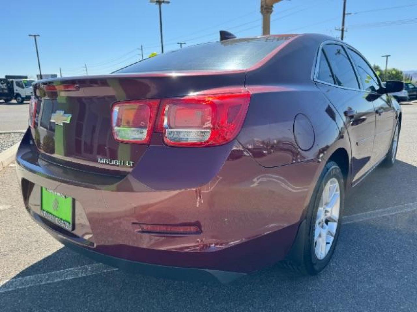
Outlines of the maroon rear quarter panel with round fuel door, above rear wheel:
M 323 40 L 327 37 L 300 35 L 264 66 L 247 72 L 246 88 L 252 97 L 238 140 L 264 167 L 327 160 L 337 146 L 350 154 L 343 120 L 311 78 Z M 297 131 L 300 114 L 312 129 L 305 124 Z M 300 141 L 313 144 L 306 148 Z

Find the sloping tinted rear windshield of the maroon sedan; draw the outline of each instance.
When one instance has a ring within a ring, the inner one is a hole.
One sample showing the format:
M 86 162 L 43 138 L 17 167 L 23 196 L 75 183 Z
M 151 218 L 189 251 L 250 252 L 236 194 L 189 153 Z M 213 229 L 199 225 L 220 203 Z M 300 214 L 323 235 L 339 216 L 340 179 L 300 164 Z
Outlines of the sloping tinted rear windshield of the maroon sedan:
M 113 73 L 246 69 L 291 37 L 230 39 L 159 54 Z

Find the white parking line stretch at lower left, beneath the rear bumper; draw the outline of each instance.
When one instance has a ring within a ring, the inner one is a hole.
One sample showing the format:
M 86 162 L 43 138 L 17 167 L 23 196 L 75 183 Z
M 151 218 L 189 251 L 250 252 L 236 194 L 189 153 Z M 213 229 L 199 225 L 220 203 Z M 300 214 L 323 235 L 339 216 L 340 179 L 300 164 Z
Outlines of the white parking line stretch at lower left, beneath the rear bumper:
M 26 288 L 30 286 L 44 285 L 49 283 L 60 282 L 63 280 L 72 280 L 73 278 L 95 275 L 103 272 L 117 270 L 115 267 L 109 267 L 102 263 L 94 263 L 83 265 L 80 267 L 72 267 L 70 269 L 48 272 L 43 274 L 35 274 L 25 277 L 17 277 L 11 280 L 0 282 L 0 293 Z

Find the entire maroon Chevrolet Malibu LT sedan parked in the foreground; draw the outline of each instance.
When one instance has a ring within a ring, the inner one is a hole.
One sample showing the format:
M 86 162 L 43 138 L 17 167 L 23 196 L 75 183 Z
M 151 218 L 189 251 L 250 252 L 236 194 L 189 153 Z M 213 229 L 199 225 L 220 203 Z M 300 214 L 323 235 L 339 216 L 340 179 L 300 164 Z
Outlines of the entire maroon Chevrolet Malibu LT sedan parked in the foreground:
M 323 270 L 349 190 L 394 165 L 403 83 L 325 35 L 230 38 L 36 82 L 16 156 L 33 220 L 143 274 Z

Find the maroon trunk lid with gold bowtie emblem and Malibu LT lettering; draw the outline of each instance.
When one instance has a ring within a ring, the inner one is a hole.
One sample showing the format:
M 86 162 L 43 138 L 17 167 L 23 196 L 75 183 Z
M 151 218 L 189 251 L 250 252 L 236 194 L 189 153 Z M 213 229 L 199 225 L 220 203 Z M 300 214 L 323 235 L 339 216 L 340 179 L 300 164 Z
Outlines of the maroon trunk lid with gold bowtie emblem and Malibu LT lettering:
M 116 141 L 115 102 L 181 97 L 224 87 L 243 87 L 244 71 L 181 74 L 111 74 L 42 80 L 35 84 L 32 135 L 45 160 L 98 173 L 126 174 L 147 144 Z

